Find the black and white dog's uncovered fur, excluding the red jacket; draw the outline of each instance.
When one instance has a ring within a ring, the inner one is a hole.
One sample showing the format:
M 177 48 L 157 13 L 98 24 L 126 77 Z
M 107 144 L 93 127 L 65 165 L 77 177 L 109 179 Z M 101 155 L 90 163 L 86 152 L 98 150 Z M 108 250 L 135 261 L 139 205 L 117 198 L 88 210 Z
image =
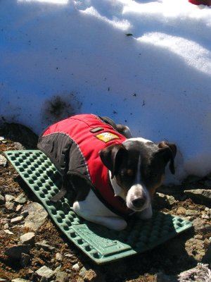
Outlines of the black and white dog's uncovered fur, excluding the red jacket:
M 170 171 L 174 173 L 177 147 L 169 142 L 155 144 L 141 137 L 133 138 L 126 126 L 115 127 L 117 132 L 126 137 L 125 140 L 122 144 L 108 145 L 98 152 L 103 166 L 108 168 L 113 197 L 120 197 L 125 207 L 140 219 L 150 219 L 151 200 L 164 179 L 167 164 L 170 164 Z M 52 134 L 48 133 L 46 137 Z M 72 177 L 71 183 L 77 191 L 72 207 L 76 214 L 113 230 L 126 228 L 124 216 L 116 214 L 99 200 L 91 185 L 89 187 L 89 182 Z

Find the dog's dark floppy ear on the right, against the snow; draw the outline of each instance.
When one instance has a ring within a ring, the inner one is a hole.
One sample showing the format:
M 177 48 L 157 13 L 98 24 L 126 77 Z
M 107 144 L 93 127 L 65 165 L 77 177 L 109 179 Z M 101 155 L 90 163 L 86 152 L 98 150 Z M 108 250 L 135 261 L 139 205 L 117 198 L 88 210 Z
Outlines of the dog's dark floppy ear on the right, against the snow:
M 159 148 L 159 154 L 162 154 L 166 164 L 168 161 L 170 161 L 170 171 L 172 174 L 174 174 L 175 173 L 174 158 L 177 154 L 177 146 L 174 143 L 162 141 L 158 144 L 158 148 Z

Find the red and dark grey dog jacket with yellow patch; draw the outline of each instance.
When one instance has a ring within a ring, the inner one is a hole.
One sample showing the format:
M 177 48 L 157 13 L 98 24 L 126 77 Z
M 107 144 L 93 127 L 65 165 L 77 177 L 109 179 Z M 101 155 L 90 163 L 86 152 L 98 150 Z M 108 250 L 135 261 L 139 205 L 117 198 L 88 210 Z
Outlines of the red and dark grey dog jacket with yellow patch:
M 126 216 L 132 211 L 120 197 L 115 197 L 108 169 L 98 154 L 101 149 L 121 144 L 126 138 L 105 120 L 92 114 L 81 114 L 59 121 L 42 133 L 38 148 L 63 176 L 70 177 L 70 182 L 74 175 L 84 178 L 103 204 L 116 214 Z M 112 124 L 115 127 L 113 121 Z M 65 192 L 61 194 L 63 196 Z M 60 197 L 55 198 L 60 200 Z

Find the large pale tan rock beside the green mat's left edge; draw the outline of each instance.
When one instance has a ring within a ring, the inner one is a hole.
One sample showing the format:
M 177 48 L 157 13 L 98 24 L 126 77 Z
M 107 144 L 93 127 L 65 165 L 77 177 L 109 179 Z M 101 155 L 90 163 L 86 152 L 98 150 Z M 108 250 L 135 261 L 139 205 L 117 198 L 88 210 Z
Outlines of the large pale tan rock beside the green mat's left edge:
M 29 215 L 25 218 L 25 227 L 30 228 L 32 231 L 36 231 L 43 225 L 48 213 L 37 202 L 27 205 L 27 211 Z

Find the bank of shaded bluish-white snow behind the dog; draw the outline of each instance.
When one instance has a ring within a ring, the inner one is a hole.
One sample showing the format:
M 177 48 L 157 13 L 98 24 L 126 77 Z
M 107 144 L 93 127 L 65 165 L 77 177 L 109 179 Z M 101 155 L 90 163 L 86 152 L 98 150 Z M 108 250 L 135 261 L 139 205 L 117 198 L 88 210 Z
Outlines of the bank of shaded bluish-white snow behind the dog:
M 188 0 L 1 0 L 0 116 L 35 133 L 70 114 L 178 147 L 211 171 L 211 7 Z

